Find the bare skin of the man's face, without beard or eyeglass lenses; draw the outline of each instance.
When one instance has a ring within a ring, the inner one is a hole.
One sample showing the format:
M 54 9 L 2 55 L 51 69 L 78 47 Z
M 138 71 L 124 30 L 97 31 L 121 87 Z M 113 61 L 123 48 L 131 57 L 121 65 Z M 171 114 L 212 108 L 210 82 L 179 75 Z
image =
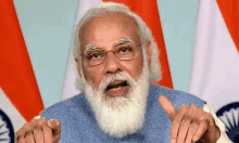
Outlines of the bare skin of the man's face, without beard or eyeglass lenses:
M 109 14 L 93 18 L 83 27 L 80 36 L 81 53 L 86 52 L 90 46 L 96 46 L 105 51 L 116 50 L 124 44 L 140 44 L 140 39 L 137 34 L 136 23 L 131 17 L 123 14 Z M 125 39 L 130 39 L 127 42 Z M 122 43 L 122 41 L 126 41 Z M 142 52 L 141 48 L 137 47 L 134 60 L 121 61 L 113 52 L 108 52 L 104 63 L 90 66 L 86 56 L 83 56 L 83 74 L 87 82 L 92 87 L 99 88 L 100 82 L 108 76 L 116 73 L 128 74 L 131 78 L 137 79 L 142 70 Z M 116 89 L 116 88 L 115 88 Z M 108 98 L 124 96 L 130 87 L 124 87 L 121 90 L 106 90 Z

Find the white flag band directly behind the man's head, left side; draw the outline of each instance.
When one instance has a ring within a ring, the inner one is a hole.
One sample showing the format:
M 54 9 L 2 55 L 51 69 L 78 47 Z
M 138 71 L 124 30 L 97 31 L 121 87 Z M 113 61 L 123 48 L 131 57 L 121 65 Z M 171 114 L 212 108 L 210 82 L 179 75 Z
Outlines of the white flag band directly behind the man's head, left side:
M 78 5 L 77 5 L 77 11 L 76 11 L 76 18 L 75 18 L 75 26 L 77 22 L 81 18 L 81 16 L 90 9 L 99 5 L 102 1 L 101 0 L 78 0 Z M 74 27 L 75 27 L 74 26 Z M 64 78 L 64 83 L 62 88 L 62 100 L 72 98 L 76 94 L 79 94 L 81 91 L 78 90 L 75 86 L 75 80 L 76 80 L 76 70 L 74 69 L 75 67 L 73 66 L 73 54 L 72 54 L 72 44 L 73 44 L 73 34 L 74 34 L 74 28 L 72 32 L 72 40 L 71 40 L 71 48 L 70 48 L 70 55 L 68 55 L 68 61 L 66 65 L 66 70 L 65 70 L 65 78 Z

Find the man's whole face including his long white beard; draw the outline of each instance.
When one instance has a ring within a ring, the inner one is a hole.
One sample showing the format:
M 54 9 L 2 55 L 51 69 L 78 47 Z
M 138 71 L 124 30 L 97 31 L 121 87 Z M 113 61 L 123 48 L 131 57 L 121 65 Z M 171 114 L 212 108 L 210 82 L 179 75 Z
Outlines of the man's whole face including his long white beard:
M 83 54 L 98 48 L 111 51 L 140 44 L 136 24 L 122 14 L 97 17 L 86 23 L 80 34 Z M 146 50 L 141 48 L 135 50 L 135 56 L 130 61 L 120 61 L 113 52 L 108 52 L 102 64 L 95 61 L 93 65 L 97 63 L 98 65 L 92 66 L 92 63 L 81 57 L 81 69 L 78 65 L 78 70 L 83 74 L 80 76 L 83 90 L 96 114 L 98 125 L 112 136 L 123 138 L 135 133 L 144 122 L 149 65 L 147 54 L 142 53 Z M 123 50 L 120 53 L 125 55 L 125 52 L 129 51 Z M 98 57 L 95 60 L 98 61 Z M 115 88 L 118 86 L 121 88 Z

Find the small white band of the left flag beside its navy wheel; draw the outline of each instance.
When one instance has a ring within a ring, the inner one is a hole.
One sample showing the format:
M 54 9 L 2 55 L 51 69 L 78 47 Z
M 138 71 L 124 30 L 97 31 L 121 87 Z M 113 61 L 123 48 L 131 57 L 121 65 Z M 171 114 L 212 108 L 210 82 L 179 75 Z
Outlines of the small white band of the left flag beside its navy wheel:
M 0 109 L 10 118 L 10 121 L 13 126 L 13 129 L 14 129 L 14 131 L 16 131 L 25 123 L 25 119 L 18 113 L 18 110 L 15 108 L 15 106 L 13 106 L 13 104 L 8 99 L 7 94 L 2 91 L 1 88 L 0 88 L 0 101 L 1 101 Z M 2 119 L 0 116 L 0 126 L 2 125 L 1 120 Z M 1 132 L 1 130 L 0 130 L 0 132 Z

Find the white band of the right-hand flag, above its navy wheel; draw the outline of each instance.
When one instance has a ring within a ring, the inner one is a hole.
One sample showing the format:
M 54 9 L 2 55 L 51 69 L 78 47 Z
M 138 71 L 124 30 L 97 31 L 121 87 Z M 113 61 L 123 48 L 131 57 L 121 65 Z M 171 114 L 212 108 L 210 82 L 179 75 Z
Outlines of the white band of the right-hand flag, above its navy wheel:
M 239 54 L 216 0 L 200 0 L 189 92 L 216 112 L 239 101 Z

